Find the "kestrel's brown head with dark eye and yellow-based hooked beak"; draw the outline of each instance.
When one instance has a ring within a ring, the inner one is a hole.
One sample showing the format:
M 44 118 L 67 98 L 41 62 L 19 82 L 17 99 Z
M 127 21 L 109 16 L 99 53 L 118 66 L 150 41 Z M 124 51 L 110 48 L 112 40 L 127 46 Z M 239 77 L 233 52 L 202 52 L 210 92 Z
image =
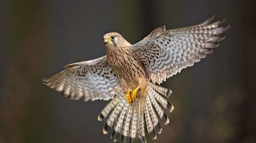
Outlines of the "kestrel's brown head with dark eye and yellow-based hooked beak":
M 106 35 L 103 36 L 103 40 L 108 50 L 114 50 L 116 48 L 121 48 L 123 46 L 131 45 L 122 37 L 122 35 L 116 32 L 107 33 Z

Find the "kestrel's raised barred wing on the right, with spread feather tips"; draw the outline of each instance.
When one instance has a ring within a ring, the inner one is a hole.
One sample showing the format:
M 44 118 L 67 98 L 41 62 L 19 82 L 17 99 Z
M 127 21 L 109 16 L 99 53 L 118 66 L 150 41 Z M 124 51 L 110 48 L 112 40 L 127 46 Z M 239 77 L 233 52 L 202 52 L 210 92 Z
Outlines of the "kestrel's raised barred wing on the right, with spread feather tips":
M 160 84 L 219 46 L 217 41 L 225 38 L 219 34 L 230 26 L 218 27 L 225 18 L 210 24 L 213 18 L 214 15 L 201 24 L 174 30 L 166 31 L 162 26 L 134 44 L 131 49 L 144 64 L 148 80 Z

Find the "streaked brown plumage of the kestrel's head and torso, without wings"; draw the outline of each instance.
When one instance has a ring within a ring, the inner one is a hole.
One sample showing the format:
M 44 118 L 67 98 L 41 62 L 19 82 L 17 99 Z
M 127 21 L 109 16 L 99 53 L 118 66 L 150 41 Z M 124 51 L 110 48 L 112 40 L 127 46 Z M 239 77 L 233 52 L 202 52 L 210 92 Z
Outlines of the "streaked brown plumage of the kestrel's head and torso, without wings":
M 140 59 L 133 53 L 132 45 L 116 32 L 104 35 L 104 39 L 111 36 L 115 38 L 105 44 L 107 61 L 125 92 L 133 91 L 139 86 L 138 97 L 147 95 L 146 71 Z

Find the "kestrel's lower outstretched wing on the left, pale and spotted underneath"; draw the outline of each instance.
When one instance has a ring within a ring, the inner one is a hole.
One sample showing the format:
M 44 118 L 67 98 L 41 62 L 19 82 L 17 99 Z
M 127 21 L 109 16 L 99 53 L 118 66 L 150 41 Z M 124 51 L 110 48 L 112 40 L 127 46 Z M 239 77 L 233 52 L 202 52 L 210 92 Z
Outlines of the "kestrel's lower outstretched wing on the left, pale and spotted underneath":
M 122 85 L 108 65 L 106 56 L 70 64 L 65 68 L 68 69 L 43 82 L 48 87 L 63 92 L 70 99 L 84 97 L 84 101 L 109 100 L 122 90 Z

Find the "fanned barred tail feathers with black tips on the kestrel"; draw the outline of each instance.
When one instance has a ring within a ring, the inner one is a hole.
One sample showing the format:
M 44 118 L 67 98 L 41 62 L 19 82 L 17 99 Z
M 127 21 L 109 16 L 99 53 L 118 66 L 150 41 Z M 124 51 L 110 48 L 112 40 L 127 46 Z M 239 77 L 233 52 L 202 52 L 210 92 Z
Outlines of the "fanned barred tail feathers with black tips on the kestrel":
M 162 107 L 169 112 L 172 112 L 174 107 L 159 93 L 168 98 L 171 90 L 151 82 L 147 84 L 148 96 L 145 98 L 137 98 L 130 105 L 126 100 L 125 92 L 122 91 L 100 112 L 99 121 L 105 120 L 108 116 L 103 127 L 103 133 L 107 134 L 113 129 L 111 138 L 114 138 L 114 142 L 120 139 L 123 143 L 127 141 L 133 143 L 137 138 L 140 142 L 147 142 L 144 126 L 147 127 L 151 139 L 156 139 L 156 134 L 162 133 L 162 125 L 158 115 L 165 125 L 169 123 Z

